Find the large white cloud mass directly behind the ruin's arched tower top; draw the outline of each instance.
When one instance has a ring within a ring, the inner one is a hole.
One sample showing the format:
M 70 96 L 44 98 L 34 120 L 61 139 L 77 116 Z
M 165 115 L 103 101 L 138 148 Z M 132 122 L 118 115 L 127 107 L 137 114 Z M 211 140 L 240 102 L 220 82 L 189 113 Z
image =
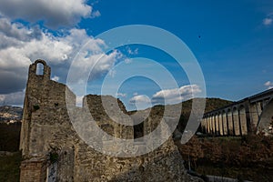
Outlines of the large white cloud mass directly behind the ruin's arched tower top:
M 101 76 L 114 66 L 116 56 L 120 55 L 117 51 L 106 55 L 103 52 L 106 47 L 104 41 L 87 35 L 83 29 L 73 28 L 59 36 L 37 26 L 11 22 L 0 17 L 0 94 L 24 89 L 28 66 L 38 58 L 44 59 L 58 73 L 59 80 L 66 80 L 64 76 L 70 63 L 87 42 L 85 50 L 78 54 L 76 66 L 80 71 L 76 73 L 76 78 L 86 76 L 88 68 L 94 66 L 98 58 L 91 79 Z

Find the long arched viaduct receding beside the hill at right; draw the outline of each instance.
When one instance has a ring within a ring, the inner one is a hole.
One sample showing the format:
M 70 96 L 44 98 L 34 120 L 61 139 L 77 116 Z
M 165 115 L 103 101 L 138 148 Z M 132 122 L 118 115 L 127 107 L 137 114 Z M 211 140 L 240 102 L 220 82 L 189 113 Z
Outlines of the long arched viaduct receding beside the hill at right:
M 201 130 L 210 136 L 272 134 L 273 88 L 204 114 Z

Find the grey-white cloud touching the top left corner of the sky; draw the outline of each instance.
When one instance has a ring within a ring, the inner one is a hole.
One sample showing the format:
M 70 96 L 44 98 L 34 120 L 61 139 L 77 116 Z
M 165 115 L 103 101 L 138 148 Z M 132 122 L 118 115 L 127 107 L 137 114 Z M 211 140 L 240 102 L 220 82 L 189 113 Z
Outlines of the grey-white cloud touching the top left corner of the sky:
M 45 21 L 50 27 L 76 25 L 81 17 L 96 17 L 86 0 L 0 0 L 0 13 L 32 23 Z

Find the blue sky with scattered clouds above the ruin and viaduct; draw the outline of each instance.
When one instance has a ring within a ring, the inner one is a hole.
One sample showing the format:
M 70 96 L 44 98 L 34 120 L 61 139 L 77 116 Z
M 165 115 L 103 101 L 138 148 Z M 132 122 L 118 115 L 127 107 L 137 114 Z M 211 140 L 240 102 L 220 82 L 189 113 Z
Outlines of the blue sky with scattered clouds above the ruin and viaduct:
M 10 0 L 0 1 L 0 105 L 22 105 L 27 69 L 35 59 L 45 59 L 52 67 L 52 78 L 66 83 L 80 48 L 91 42 L 94 56 L 105 44 L 96 35 L 122 25 L 153 25 L 183 40 L 202 68 L 208 97 L 238 100 L 273 86 L 271 0 Z M 190 85 L 176 60 L 162 51 L 145 45 L 116 50 L 106 54 L 89 77 L 87 93 L 100 94 L 106 74 L 116 64 L 138 56 L 165 66 L 183 99 L 200 92 L 200 87 Z M 153 69 L 148 64 L 140 61 L 134 67 L 148 72 Z M 138 76 L 128 78 L 116 96 L 128 109 L 135 109 L 136 102 L 141 108 L 149 106 L 153 98 L 171 95 L 173 89 Z

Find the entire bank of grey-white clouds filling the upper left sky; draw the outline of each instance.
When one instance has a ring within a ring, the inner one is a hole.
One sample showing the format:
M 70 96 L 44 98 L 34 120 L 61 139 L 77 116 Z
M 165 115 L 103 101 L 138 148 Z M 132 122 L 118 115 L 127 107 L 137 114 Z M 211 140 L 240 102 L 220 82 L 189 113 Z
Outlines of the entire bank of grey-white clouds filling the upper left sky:
M 0 104 L 23 104 L 28 66 L 36 59 L 44 59 L 55 70 L 53 80 L 66 81 L 72 60 L 87 42 L 87 52 L 79 55 L 77 63 L 83 70 L 80 74 L 97 57 L 103 58 L 93 77 L 109 70 L 117 53 L 105 55 L 103 40 L 75 27 L 82 18 L 99 15 L 85 0 L 0 0 Z

